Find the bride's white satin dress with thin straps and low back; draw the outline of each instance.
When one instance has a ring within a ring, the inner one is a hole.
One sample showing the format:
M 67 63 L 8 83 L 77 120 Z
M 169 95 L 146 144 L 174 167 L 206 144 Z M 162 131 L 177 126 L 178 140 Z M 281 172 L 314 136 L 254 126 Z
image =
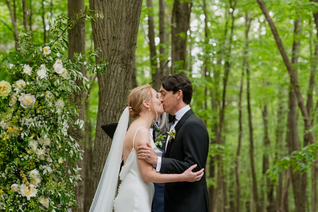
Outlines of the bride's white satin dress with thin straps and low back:
M 136 133 L 140 128 L 142 127 L 139 127 L 136 130 Z M 134 148 L 135 136 L 133 139 L 133 149 L 129 153 L 126 163 L 121 168 L 121 172 L 119 174 L 122 182 L 118 189 L 118 195 L 114 200 L 115 212 L 151 211 L 151 203 L 154 197 L 155 188 L 152 182 L 143 181 L 139 172 L 137 154 Z M 151 147 L 155 150 L 158 156 L 162 156 L 162 152 L 156 147 L 150 133 L 149 137 Z

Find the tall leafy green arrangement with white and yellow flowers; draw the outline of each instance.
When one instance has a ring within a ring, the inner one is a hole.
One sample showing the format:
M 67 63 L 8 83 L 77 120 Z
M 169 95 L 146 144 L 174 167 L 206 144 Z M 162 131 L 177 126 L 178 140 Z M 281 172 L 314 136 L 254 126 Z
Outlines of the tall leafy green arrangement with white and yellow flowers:
M 93 19 L 99 12 L 86 8 L 74 19 L 59 15 L 52 23 L 52 39 L 45 45 L 33 42 L 32 33 L 21 31 L 19 51 L 0 58 L 0 210 L 66 211 L 76 205 L 73 186 L 81 180 L 79 170 L 64 165 L 81 160 L 78 141 L 69 127 L 84 130 L 84 120 L 70 93 L 89 88 L 78 70 L 105 72 L 95 64 L 99 50 L 85 58 L 75 53 L 62 60 L 67 48 L 66 32 L 78 21 Z M 79 83 L 76 83 L 79 82 Z

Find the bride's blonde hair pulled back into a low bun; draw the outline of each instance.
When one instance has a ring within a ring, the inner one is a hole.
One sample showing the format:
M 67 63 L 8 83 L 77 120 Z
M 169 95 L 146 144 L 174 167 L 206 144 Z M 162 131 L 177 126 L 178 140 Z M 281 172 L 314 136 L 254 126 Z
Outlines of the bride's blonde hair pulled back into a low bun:
M 152 93 L 151 93 L 151 85 L 141 85 L 139 87 L 134 88 L 128 96 L 128 107 L 129 108 L 129 116 L 132 118 L 137 118 L 142 108 L 143 101 L 151 101 Z

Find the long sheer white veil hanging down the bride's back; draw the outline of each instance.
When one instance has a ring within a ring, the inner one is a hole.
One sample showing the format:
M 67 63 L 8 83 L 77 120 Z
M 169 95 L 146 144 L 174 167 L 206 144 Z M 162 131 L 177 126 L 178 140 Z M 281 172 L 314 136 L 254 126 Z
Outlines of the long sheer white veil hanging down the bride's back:
M 113 210 L 113 203 L 117 188 L 119 169 L 123 143 L 128 127 L 129 107 L 121 114 L 118 126 L 114 133 L 112 146 L 100 177 L 100 181 L 89 212 L 100 212 Z

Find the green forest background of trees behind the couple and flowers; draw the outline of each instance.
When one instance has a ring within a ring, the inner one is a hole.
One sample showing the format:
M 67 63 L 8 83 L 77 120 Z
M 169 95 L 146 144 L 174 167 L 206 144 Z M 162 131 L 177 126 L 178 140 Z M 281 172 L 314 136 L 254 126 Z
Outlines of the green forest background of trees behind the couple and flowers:
M 85 131 L 69 132 L 85 151 L 73 211 L 88 211 L 107 158 L 111 140 L 100 125 L 118 121 L 132 88 L 183 73 L 210 135 L 210 210 L 316 212 L 317 2 L 5 0 L 0 55 L 18 48 L 22 27 L 45 43 L 58 14 L 104 14 L 70 30 L 64 52 L 100 48 L 96 62 L 108 63 L 106 73 L 81 70 L 91 87 L 75 99 L 86 99 Z

